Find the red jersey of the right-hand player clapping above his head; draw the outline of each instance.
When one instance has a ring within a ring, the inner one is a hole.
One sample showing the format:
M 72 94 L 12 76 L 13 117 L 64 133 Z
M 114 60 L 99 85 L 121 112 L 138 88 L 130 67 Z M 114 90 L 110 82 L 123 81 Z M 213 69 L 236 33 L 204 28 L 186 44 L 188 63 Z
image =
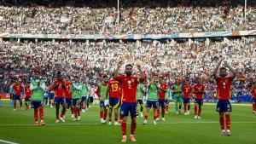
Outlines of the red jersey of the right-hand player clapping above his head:
M 230 89 L 233 78 L 217 78 L 217 96 L 218 100 L 230 100 Z

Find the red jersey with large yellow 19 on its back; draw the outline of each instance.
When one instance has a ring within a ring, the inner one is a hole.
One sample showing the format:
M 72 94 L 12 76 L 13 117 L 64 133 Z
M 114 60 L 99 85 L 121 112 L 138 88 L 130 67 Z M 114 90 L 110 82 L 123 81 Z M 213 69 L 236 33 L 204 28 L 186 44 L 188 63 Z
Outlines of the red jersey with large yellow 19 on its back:
M 108 81 L 109 97 L 120 97 L 120 83 L 115 79 L 110 79 Z

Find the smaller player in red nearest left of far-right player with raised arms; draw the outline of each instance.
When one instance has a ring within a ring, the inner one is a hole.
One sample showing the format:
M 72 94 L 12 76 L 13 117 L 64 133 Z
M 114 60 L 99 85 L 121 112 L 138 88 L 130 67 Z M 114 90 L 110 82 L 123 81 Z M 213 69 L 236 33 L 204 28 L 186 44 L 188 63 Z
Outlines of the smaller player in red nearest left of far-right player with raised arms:
M 201 79 L 195 80 L 193 93 L 195 94 L 195 119 L 201 119 L 201 106 L 203 104 L 203 96 L 205 94 L 205 85 L 201 84 Z M 198 112 L 197 112 L 198 107 Z

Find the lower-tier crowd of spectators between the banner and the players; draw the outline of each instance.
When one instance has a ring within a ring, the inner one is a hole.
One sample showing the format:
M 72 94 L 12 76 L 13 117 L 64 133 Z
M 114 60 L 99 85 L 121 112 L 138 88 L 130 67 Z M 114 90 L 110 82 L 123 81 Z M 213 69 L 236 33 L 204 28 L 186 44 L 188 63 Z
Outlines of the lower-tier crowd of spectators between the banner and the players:
M 233 94 L 250 95 L 247 85 L 256 77 L 255 37 L 225 39 L 224 41 L 177 43 L 113 43 L 113 42 L 28 42 L 3 41 L 1 43 L 1 88 L 11 78 L 30 79 L 32 69 L 41 66 L 48 84 L 57 70 L 66 75 L 78 75 L 90 84 L 96 84 L 102 73 L 113 73 L 117 61 L 141 63 L 149 75 L 164 73 L 166 81 L 173 84 L 175 78 L 202 78 L 207 93 L 215 93 L 212 71 L 219 59 L 226 57 L 228 63 L 240 72 Z M 124 67 L 123 67 L 124 70 Z M 123 71 L 121 71 L 123 72 Z

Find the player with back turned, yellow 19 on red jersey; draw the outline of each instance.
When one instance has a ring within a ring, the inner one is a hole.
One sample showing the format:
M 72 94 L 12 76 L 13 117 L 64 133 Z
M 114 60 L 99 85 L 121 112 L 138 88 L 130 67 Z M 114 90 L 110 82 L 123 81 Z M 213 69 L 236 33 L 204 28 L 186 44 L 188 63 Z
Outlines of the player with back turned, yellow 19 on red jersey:
M 116 81 L 115 79 L 111 78 L 108 81 L 108 90 L 107 93 L 109 95 L 109 112 L 108 112 L 108 124 L 112 123 L 112 111 L 114 108 L 114 125 L 119 125 L 118 118 L 119 118 L 119 97 L 121 95 L 120 91 L 120 83 L 119 81 Z M 107 95 L 107 96 L 108 96 Z

